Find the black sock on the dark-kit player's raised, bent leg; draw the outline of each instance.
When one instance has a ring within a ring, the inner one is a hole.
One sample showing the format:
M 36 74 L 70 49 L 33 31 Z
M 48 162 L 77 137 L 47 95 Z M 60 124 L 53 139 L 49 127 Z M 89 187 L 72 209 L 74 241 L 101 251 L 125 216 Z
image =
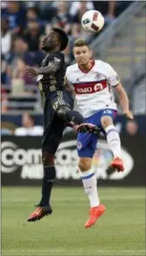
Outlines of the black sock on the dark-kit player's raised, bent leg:
M 73 123 L 77 125 L 86 122 L 84 117 L 78 111 L 75 110 L 67 111 L 66 118 L 68 119 L 68 121 L 73 121 Z

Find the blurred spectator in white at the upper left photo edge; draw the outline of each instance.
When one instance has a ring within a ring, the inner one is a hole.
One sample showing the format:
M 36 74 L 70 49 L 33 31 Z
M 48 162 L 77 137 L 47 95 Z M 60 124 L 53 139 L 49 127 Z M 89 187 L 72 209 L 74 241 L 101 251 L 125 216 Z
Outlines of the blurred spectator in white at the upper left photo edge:
M 6 55 L 10 52 L 11 46 L 11 33 L 9 30 L 8 19 L 1 19 L 1 30 L 2 30 L 2 54 Z

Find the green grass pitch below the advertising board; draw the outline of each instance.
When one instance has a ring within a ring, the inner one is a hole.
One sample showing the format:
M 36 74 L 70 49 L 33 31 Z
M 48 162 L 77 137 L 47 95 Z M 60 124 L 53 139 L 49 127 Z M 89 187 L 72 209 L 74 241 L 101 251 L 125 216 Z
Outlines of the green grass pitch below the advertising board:
M 2 188 L 2 255 L 146 255 L 145 189 L 99 187 L 107 210 L 84 228 L 89 204 L 82 187 L 54 187 L 52 216 L 26 219 L 40 187 Z

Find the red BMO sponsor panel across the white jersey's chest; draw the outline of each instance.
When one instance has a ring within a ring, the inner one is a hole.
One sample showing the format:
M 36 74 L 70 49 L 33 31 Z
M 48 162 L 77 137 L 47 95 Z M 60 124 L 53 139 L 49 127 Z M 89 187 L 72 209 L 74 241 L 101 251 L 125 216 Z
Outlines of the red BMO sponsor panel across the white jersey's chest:
M 102 80 L 101 83 L 87 82 L 83 84 L 74 84 L 74 89 L 77 94 L 83 94 L 83 93 L 94 93 L 97 91 L 102 91 L 107 86 L 108 86 L 107 81 Z

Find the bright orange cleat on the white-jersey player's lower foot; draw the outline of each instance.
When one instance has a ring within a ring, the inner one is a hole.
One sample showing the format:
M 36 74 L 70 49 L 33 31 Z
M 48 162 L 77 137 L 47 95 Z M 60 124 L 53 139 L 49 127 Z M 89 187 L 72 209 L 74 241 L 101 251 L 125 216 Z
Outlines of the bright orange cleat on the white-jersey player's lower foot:
M 93 207 L 90 209 L 90 216 L 89 219 L 87 220 L 87 223 L 85 223 L 85 228 L 90 228 L 98 218 L 105 212 L 106 208 L 103 204 L 100 204 L 97 207 Z

